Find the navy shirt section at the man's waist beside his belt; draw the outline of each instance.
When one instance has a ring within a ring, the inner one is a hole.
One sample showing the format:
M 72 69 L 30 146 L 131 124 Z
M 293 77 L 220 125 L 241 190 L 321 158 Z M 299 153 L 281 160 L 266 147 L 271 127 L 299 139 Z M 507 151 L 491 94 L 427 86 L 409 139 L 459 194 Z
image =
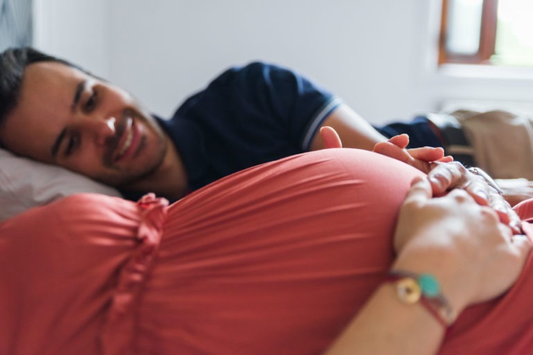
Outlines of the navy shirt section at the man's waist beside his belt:
M 387 138 L 407 133 L 409 135 L 409 146 L 407 148 L 443 146 L 439 137 L 431 129 L 430 122 L 425 116 L 416 116 L 410 122 L 394 122 L 381 127 L 375 126 L 374 128 Z

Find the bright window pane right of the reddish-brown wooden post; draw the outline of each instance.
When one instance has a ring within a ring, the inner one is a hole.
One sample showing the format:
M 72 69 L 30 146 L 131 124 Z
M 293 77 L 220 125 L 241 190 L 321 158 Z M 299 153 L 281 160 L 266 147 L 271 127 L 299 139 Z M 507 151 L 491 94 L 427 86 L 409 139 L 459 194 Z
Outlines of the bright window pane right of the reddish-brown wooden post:
M 533 66 L 532 0 L 500 0 L 494 64 Z

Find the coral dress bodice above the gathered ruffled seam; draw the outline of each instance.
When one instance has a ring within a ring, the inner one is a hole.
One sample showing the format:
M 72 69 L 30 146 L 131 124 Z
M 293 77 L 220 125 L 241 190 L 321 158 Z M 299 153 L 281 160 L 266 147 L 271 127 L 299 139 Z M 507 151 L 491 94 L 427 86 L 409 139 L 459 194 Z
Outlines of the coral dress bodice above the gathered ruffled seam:
M 0 224 L 0 354 L 129 354 L 168 202 L 78 194 Z

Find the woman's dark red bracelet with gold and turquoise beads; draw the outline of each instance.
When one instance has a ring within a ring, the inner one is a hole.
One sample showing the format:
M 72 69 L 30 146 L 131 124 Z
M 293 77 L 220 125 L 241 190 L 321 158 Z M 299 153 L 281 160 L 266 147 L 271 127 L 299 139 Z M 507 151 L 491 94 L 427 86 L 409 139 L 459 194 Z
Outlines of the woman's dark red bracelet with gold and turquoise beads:
M 405 270 L 392 270 L 387 274 L 387 282 L 394 282 L 396 294 L 405 304 L 420 303 L 425 306 L 443 327 L 455 322 L 457 315 L 446 297 L 441 294 L 437 279 L 430 274 L 416 274 Z

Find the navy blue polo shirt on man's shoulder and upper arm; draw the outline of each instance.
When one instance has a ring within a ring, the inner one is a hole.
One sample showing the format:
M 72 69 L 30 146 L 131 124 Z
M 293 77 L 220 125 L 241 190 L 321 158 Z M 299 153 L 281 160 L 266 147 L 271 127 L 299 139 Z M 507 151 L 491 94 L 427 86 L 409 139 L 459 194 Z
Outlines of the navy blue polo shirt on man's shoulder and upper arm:
M 189 97 L 169 120 L 194 191 L 236 171 L 303 153 L 341 101 L 296 71 L 253 62 Z M 137 196 L 130 196 L 136 198 Z

